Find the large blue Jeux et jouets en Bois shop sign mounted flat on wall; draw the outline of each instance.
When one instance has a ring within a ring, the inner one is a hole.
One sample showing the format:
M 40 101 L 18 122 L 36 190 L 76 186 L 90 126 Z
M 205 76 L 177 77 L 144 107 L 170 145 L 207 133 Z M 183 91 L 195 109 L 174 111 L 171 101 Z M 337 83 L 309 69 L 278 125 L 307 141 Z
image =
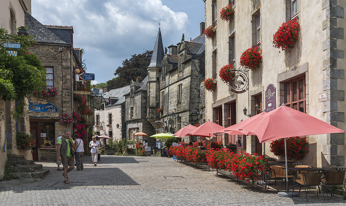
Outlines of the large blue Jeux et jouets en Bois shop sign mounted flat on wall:
M 51 102 L 29 100 L 30 117 L 58 117 L 58 107 Z

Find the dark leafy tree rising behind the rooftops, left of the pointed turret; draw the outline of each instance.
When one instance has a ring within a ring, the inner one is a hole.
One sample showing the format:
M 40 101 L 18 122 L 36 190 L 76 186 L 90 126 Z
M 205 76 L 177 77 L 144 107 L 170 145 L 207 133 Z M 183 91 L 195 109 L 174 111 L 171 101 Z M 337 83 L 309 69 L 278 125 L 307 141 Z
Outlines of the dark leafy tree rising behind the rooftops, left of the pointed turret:
M 107 84 L 116 89 L 129 85 L 137 76 L 145 78 L 152 54 L 153 51 L 147 50 L 142 54 L 131 55 L 131 58 L 122 61 L 122 66 L 115 71 L 114 75 L 117 77 L 107 81 Z

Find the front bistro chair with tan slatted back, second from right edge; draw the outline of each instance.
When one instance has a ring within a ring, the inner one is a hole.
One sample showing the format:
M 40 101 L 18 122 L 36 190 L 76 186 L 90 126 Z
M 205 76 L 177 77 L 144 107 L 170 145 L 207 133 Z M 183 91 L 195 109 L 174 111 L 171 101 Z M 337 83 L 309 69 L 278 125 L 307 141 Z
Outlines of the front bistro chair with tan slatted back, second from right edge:
M 324 170 L 313 170 L 313 171 L 307 171 L 307 172 L 302 172 L 300 173 L 301 179 L 295 180 L 297 183 L 299 183 L 301 186 L 299 188 L 299 193 L 298 196 L 300 197 L 300 190 L 304 186 L 305 190 L 305 196 L 306 196 L 306 201 L 308 201 L 308 190 L 306 187 L 311 187 L 311 186 L 317 186 L 318 190 L 321 190 L 321 177 L 323 174 Z M 318 190 L 317 190 L 317 195 L 318 196 Z M 324 194 L 322 191 L 323 199 Z

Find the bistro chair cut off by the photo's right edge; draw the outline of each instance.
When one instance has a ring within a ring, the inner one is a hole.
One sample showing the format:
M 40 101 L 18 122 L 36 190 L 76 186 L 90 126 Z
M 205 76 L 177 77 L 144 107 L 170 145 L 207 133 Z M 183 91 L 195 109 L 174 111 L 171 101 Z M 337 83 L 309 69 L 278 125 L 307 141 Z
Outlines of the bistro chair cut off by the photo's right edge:
M 322 184 L 324 184 L 323 187 L 325 187 L 327 190 L 327 199 L 328 199 L 328 190 L 329 190 L 327 188 L 327 185 L 343 185 L 345 171 L 346 171 L 346 168 L 335 168 L 335 169 L 330 169 L 323 172 L 324 178 L 321 178 L 321 186 L 323 186 Z M 344 189 L 346 190 L 346 188 Z M 329 192 L 331 194 L 330 196 L 333 197 L 334 192 L 332 192 L 331 190 L 329 190 Z

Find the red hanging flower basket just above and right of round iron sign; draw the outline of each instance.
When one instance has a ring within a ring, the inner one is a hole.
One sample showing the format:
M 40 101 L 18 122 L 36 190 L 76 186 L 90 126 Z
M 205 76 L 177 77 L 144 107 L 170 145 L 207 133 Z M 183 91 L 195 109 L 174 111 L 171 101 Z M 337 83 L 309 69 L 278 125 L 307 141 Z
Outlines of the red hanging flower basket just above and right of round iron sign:
M 254 70 L 262 62 L 261 50 L 257 46 L 252 46 L 245 50 L 240 56 L 240 65 L 247 69 Z

